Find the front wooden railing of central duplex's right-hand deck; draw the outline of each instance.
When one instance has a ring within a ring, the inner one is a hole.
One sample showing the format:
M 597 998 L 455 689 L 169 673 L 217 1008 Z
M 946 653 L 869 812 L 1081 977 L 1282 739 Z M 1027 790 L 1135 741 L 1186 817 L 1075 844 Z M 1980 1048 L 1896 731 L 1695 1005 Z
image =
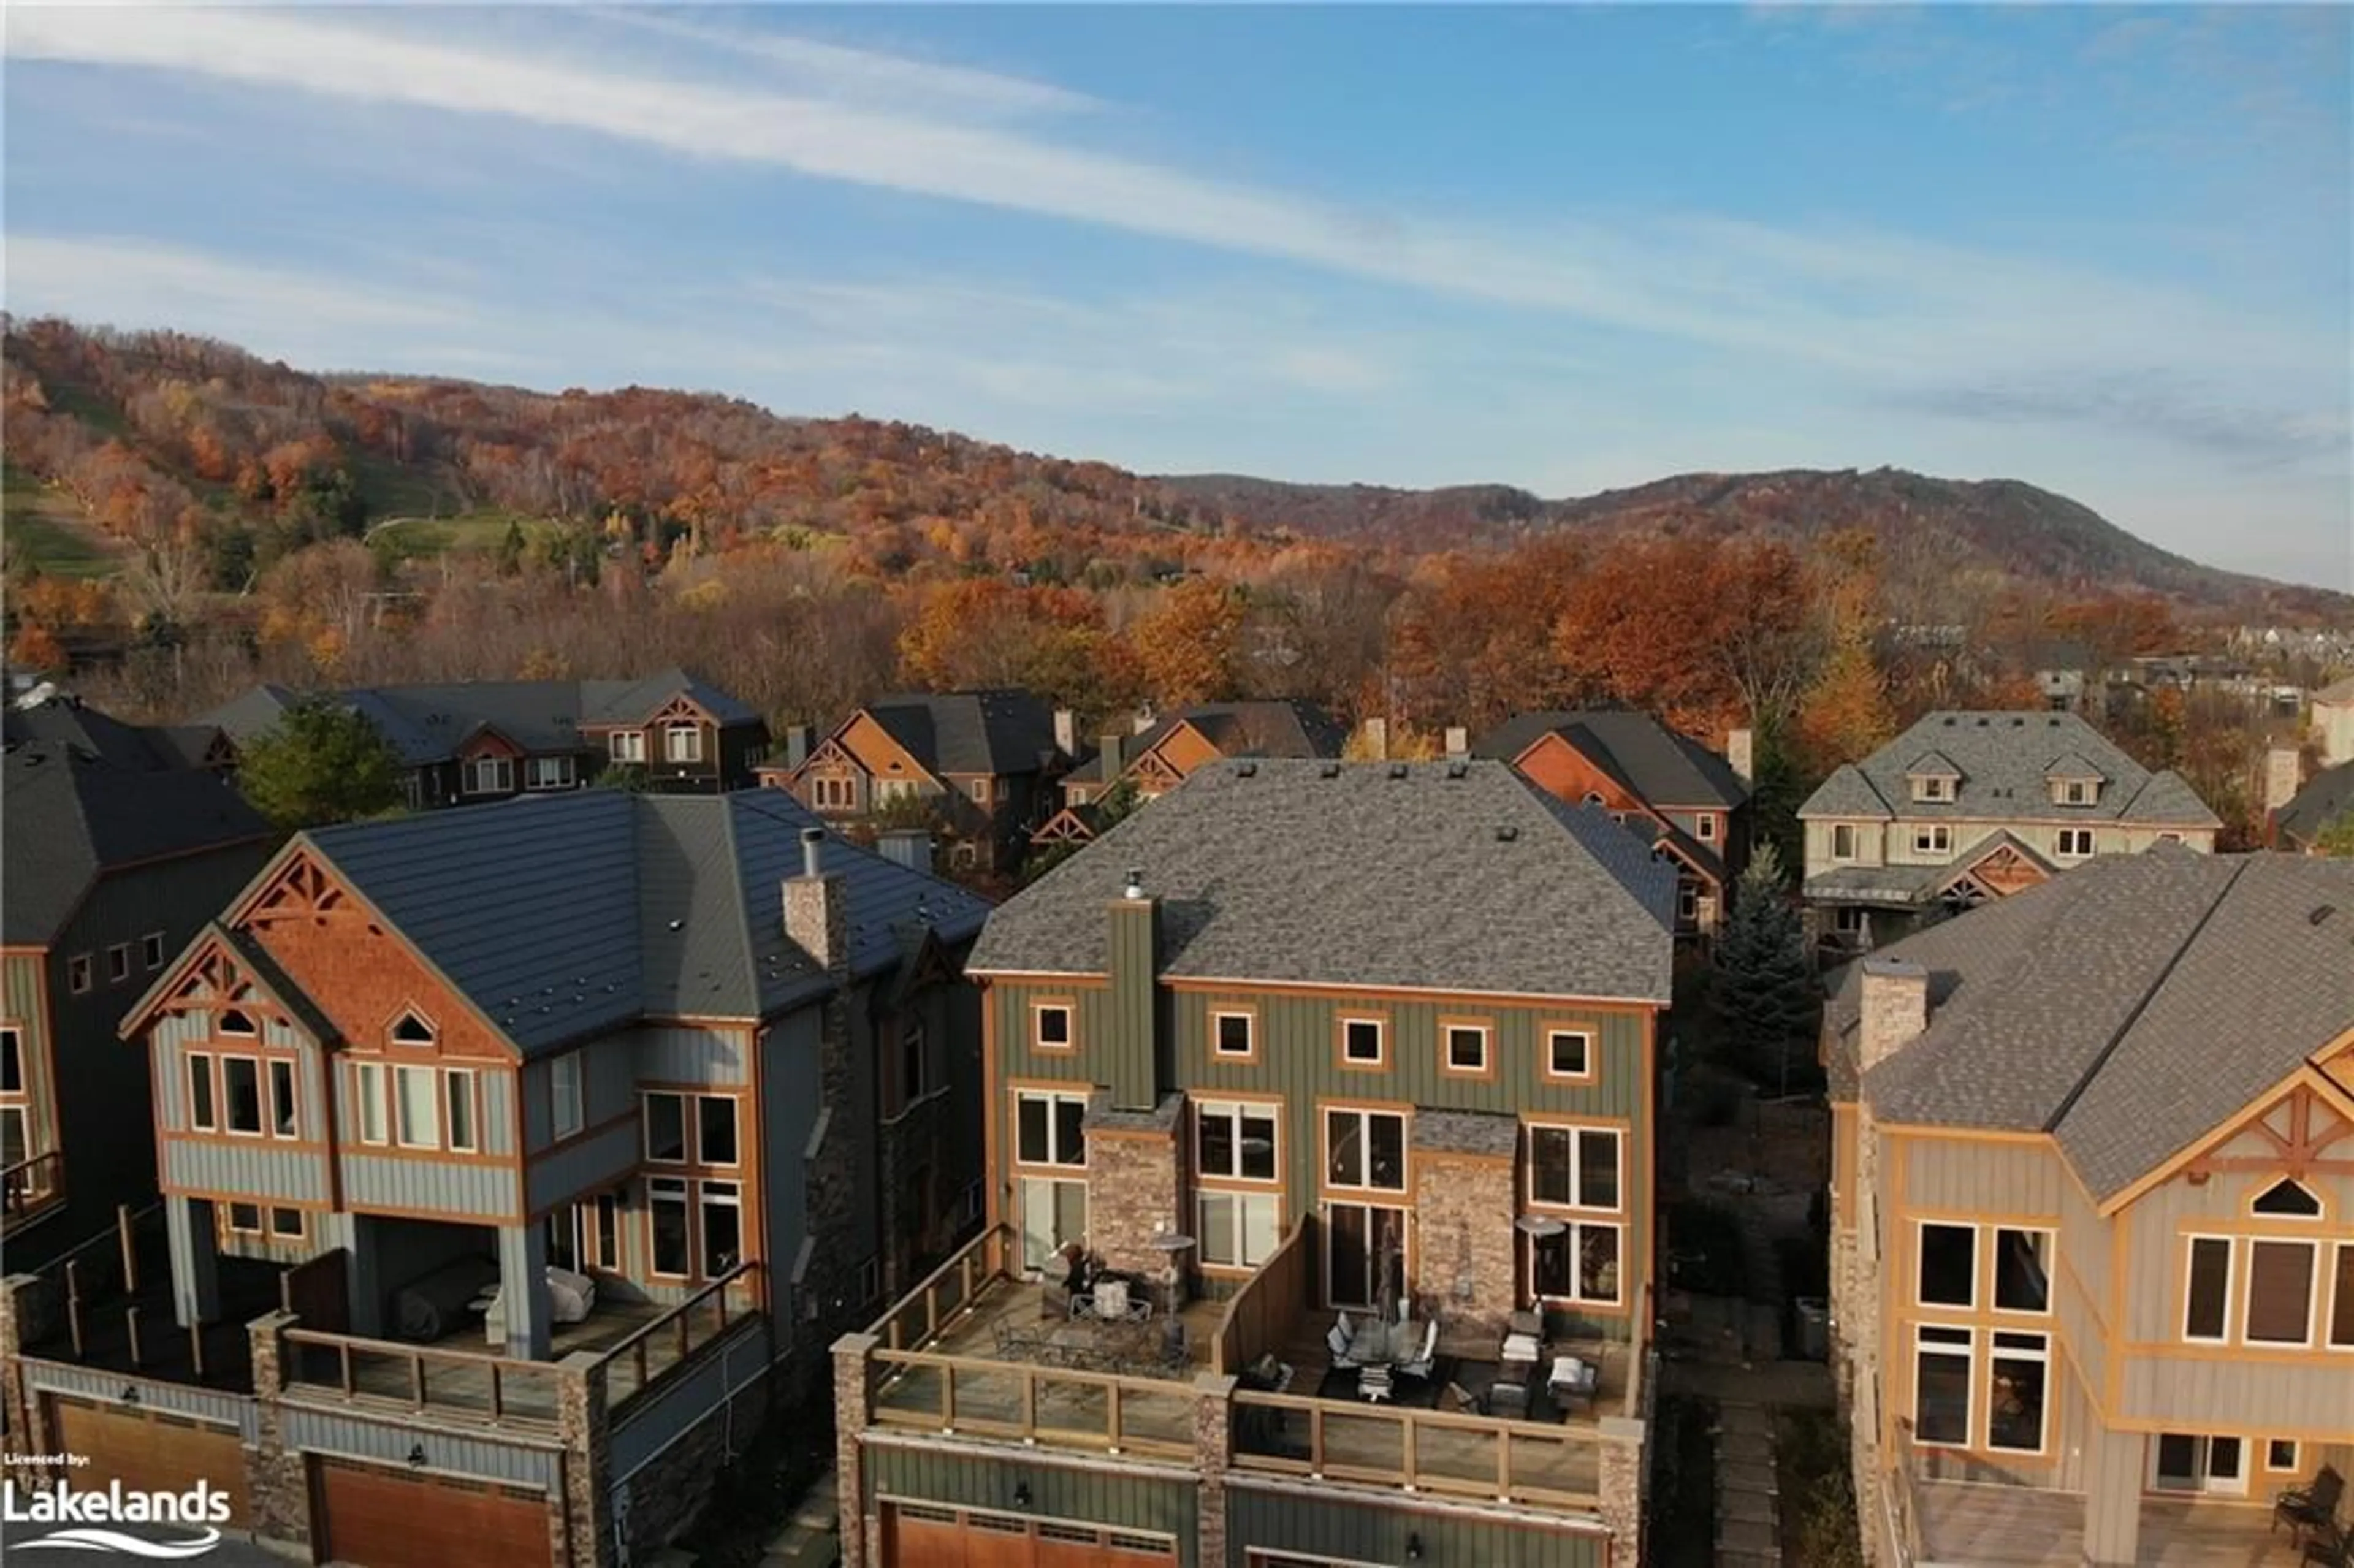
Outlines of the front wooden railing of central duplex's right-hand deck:
M 1549 1509 L 1594 1509 L 1601 1500 L 1603 1439 L 1594 1427 L 1255 1391 L 1236 1391 L 1233 1413 L 1236 1469 Z

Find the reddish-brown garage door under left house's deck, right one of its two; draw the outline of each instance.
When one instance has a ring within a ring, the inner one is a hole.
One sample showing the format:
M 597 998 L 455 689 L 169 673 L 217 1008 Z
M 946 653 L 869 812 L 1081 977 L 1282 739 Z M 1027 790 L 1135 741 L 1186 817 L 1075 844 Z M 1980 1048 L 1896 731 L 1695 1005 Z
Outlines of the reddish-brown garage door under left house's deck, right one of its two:
M 322 1563 L 358 1568 L 544 1568 L 548 1500 L 494 1481 L 311 1455 L 311 1547 Z

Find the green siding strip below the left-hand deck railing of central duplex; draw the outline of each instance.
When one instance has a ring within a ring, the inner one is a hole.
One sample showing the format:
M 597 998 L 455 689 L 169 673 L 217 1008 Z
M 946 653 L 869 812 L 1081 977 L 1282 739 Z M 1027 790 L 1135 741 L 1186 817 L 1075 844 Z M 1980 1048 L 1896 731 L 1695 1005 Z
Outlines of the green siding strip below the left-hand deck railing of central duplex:
M 1026 1509 L 1015 1509 L 1017 1486 L 1031 1490 Z M 1153 1530 L 1177 1537 L 1177 1561 L 1184 1568 L 1201 1568 L 1201 1502 L 1196 1493 L 1193 1476 L 1179 1471 L 1146 1476 L 1078 1469 L 1048 1464 L 1031 1455 L 993 1455 L 946 1443 L 866 1446 L 869 1509 L 876 1507 L 878 1497 L 899 1497 L 942 1507 L 1022 1511 L 1033 1519 L 1069 1519 L 1116 1530 Z

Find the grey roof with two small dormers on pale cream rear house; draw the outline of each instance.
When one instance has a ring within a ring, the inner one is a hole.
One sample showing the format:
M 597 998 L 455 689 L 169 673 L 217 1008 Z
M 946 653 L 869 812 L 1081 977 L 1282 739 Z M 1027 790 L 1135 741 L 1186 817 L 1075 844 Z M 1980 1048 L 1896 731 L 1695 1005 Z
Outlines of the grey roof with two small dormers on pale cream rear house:
M 1954 800 L 1914 800 L 1907 772 L 1937 756 L 1954 765 L 1961 786 Z M 2074 758 L 2104 786 L 2093 805 L 2053 805 L 2050 768 Z M 1921 718 L 1862 763 L 1834 772 L 1798 808 L 1801 817 L 2067 817 L 2072 822 L 2140 822 L 2213 829 L 2222 822 L 2175 775 L 2152 775 L 2074 713 L 1966 713 L 1940 711 Z M 1864 784 L 1864 791 L 1857 791 Z

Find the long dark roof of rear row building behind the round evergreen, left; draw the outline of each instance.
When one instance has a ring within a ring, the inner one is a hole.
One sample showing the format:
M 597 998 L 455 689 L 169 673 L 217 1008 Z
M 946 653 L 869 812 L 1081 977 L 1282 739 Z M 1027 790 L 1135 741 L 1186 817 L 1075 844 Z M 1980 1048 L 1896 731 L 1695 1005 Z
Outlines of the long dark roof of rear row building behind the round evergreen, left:
M 723 725 L 760 716 L 680 669 L 643 680 L 454 680 L 445 685 L 355 685 L 337 692 L 384 732 L 410 768 L 445 763 L 483 730 L 497 730 L 530 753 L 588 751 L 581 725 L 645 723 L 673 697 L 694 697 Z M 278 725 L 301 699 L 282 685 L 257 685 L 205 716 L 233 739 Z

